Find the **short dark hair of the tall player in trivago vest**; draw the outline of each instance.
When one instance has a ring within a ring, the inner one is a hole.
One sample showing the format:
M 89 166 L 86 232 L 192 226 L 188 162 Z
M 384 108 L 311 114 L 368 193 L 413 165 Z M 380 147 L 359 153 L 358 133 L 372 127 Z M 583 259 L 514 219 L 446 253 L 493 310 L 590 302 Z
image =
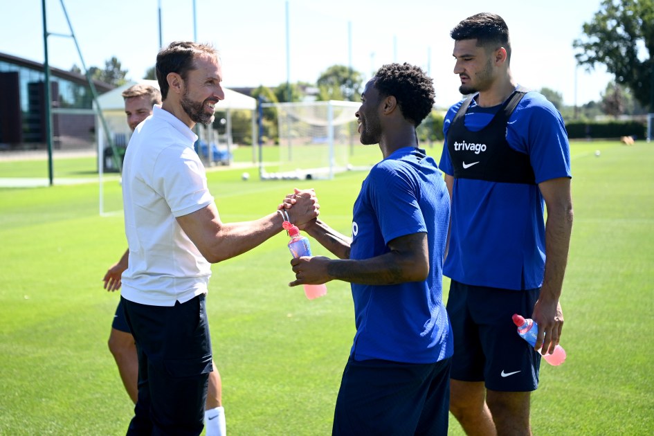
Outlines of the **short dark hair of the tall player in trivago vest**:
M 504 47 L 507 50 L 507 60 L 511 60 L 509 26 L 499 15 L 482 12 L 468 17 L 452 29 L 450 36 L 455 41 L 477 39 L 478 47 L 491 50 Z

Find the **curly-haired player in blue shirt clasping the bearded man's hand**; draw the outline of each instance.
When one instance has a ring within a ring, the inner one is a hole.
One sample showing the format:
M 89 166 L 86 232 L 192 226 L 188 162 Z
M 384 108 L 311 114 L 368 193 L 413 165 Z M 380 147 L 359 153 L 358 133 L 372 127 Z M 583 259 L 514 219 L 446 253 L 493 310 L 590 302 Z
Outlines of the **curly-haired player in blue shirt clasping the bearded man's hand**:
M 291 286 L 352 283 L 356 334 L 333 435 L 445 435 L 453 338 L 442 262 L 450 205 L 443 174 L 415 132 L 432 109 L 433 81 L 417 66 L 385 65 L 361 101 L 361 143 L 379 143 L 383 161 L 354 203 L 352 238 L 321 220 L 305 225 L 339 260 L 292 260 Z

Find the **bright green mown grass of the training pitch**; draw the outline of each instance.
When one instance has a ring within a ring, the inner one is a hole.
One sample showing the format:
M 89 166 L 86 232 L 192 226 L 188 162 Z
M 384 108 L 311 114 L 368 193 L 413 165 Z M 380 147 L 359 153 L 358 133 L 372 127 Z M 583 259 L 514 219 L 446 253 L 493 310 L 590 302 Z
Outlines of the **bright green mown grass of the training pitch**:
M 251 152 L 243 153 L 237 160 Z M 654 144 L 572 143 L 575 220 L 561 300 L 568 357 L 561 367 L 543 363 L 536 435 L 654 433 L 653 167 Z M 46 168 L 0 162 L 0 177 L 46 177 Z M 0 435 L 120 435 L 131 418 L 107 349 L 118 295 L 101 281 L 125 235 L 121 215 L 98 215 L 95 168 L 93 158 L 55 160 L 55 176 L 91 183 L 55 177 L 51 188 L 0 189 Z M 322 217 L 349 234 L 365 173 L 262 182 L 252 170 L 242 181 L 243 171 L 208 173 L 223 221 L 271 213 L 293 187 L 313 187 Z M 120 194 L 116 180 L 105 188 Z M 208 314 L 232 436 L 331 432 L 354 335 L 349 286 L 329 282 L 327 296 L 311 301 L 287 287 L 286 244 L 280 233 L 213 266 Z M 450 428 L 462 435 L 455 419 Z

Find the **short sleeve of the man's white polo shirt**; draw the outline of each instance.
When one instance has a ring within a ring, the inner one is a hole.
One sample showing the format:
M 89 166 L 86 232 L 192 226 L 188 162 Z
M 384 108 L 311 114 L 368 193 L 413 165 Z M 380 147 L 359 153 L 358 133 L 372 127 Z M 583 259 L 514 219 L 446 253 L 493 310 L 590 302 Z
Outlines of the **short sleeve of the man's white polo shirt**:
M 213 202 L 207 188 L 206 173 L 197 154 L 189 147 L 167 147 L 158 156 L 154 181 L 172 215 L 182 217 Z

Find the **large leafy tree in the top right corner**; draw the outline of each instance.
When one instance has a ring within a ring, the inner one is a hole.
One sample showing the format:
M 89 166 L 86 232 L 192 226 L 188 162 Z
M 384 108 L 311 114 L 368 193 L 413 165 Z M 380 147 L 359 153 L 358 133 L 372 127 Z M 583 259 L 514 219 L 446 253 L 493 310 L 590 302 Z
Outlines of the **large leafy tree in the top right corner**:
M 654 0 L 603 0 L 583 33 L 572 44 L 579 49 L 577 62 L 588 69 L 605 65 L 654 111 Z

